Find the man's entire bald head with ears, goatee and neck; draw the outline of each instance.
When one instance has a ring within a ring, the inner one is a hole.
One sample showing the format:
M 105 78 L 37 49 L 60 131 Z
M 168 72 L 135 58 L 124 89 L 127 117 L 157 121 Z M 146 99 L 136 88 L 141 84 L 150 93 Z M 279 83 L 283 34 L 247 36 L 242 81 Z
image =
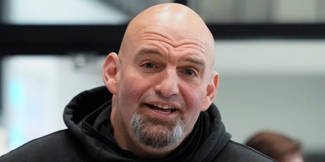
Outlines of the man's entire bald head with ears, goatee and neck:
M 119 146 L 142 157 L 176 148 L 214 99 L 213 61 L 213 36 L 186 6 L 157 5 L 136 16 L 103 71 Z

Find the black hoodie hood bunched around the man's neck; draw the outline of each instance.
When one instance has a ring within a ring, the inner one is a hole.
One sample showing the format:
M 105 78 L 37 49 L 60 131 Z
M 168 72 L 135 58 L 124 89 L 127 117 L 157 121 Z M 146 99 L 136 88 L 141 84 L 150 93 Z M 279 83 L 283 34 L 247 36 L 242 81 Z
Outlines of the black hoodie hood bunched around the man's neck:
M 63 112 L 68 129 L 84 143 L 96 161 L 211 161 L 229 142 L 217 107 L 201 112 L 191 134 L 165 158 L 142 160 L 121 149 L 113 138 L 110 123 L 112 94 L 105 86 L 74 97 Z

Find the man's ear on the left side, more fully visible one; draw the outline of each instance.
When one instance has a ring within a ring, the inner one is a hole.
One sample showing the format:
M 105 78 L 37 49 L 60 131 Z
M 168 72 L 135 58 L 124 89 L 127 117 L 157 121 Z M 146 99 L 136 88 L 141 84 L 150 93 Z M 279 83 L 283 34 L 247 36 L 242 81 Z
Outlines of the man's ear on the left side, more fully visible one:
M 103 66 L 103 80 L 108 90 L 117 95 L 117 73 L 120 70 L 120 62 L 116 53 L 108 54 Z

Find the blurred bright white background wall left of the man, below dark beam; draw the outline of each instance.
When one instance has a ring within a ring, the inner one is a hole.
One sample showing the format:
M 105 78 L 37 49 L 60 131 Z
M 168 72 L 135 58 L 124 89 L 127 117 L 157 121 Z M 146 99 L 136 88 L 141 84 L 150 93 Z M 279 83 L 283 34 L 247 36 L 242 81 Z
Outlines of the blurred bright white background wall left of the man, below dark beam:
M 4 58 L 0 123 L 6 128 L 2 132 L 8 133 L 3 135 L 8 143 L 0 143 L 7 147 L 4 151 L 66 129 L 64 107 L 78 93 L 103 85 L 104 59 L 83 55 Z

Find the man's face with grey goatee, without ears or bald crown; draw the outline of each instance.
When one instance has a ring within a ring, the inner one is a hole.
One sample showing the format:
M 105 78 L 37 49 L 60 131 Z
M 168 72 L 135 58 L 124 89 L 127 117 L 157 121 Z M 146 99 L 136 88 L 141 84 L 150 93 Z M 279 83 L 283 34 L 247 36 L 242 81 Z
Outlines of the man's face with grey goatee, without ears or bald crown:
M 141 143 L 156 148 L 179 144 L 207 108 L 212 54 L 190 30 L 149 26 L 130 40 L 120 60 L 116 112 Z

